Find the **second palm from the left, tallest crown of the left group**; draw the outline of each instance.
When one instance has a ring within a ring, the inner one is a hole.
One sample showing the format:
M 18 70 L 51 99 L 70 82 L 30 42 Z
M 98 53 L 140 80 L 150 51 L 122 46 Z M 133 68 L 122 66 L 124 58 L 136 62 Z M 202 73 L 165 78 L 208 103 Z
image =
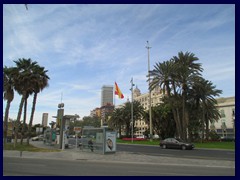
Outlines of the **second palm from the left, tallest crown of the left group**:
M 33 78 L 33 68 L 37 66 L 36 61 L 32 61 L 30 58 L 29 59 L 18 59 L 17 61 L 14 61 L 16 64 L 15 67 L 15 75 L 14 75 L 14 88 L 22 96 L 21 102 L 19 105 L 19 111 L 17 115 L 17 123 L 20 123 L 21 119 L 21 114 L 22 114 L 22 108 L 24 105 L 24 102 L 26 101 L 28 93 L 33 91 L 32 88 L 32 82 L 31 79 Z M 26 112 L 25 112 L 26 113 Z M 24 124 L 25 126 L 25 124 Z M 14 140 L 14 147 L 16 146 L 17 143 L 17 138 L 18 138 L 18 130 L 19 127 L 17 126 L 15 128 L 15 140 Z

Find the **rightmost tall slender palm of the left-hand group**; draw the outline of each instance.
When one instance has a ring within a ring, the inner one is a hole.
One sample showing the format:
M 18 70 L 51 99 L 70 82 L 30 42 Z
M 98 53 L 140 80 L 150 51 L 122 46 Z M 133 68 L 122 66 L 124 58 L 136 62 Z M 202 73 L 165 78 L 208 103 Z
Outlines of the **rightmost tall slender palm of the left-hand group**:
M 32 111 L 29 121 L 29 128 L 28 128 L 28 138 L 27 138 L 27 144 L 29 144 L 29 139 L 31 137 L 32 132 L 32 123 L 33 123 L 33 117 L 37 102 L 37 95 L 40 93 L 44 88 L 48 87 L 48 80 L 50 79 L 47 75 L 48 70 L 45 70 L 44 67 L 35 66 L 33 68 L 33 76 L 31 79 L 32 82 L 32 90 L 33 90 L 33 102 L 32 102 Z

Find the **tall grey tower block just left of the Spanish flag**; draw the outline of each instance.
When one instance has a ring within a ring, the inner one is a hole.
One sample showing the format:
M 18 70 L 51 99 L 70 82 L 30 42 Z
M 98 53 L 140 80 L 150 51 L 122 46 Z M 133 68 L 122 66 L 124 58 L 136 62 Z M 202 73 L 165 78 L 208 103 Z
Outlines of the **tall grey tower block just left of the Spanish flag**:
M 102 86 L 101 107 L 113 105 L 113 86 Z

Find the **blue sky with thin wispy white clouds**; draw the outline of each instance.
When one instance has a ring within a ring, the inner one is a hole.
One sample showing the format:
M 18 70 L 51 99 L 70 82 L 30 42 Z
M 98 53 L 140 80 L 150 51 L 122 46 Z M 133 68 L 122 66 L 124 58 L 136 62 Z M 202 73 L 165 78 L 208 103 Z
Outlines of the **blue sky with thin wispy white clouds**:
M 55 121 L 58 104 L 80 119 L 101 104 L 103 85 L 116 82 L 131 99 L 131 78 L 148 92 L 150 69 L 178 52 L 199 58 L 202 75 L 223 93 L 235 96 L 234 4 L 24 4 L 3 5 L 3 66 L 31 58 L 48 70 L 49 87 L 37 99 L 33 124 Z M 9 117 L 17 118 L 15 93 Z M 32 97 L 28 99 L 27 122 Z M 3 101 L 3 113 L 6 102 Z

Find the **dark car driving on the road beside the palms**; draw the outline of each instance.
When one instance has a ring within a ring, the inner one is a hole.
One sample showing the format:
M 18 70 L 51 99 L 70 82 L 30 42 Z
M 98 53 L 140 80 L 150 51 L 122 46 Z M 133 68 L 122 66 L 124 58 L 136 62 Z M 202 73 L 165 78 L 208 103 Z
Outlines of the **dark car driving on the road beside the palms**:
M 194 148 L 194 144 L 188 143 L 188 142 L 183 142 L 182 140 L 175 139 L 175 138 L 164 139 L 164 140 L 160 141 L 159 145 L 163 149 L 171 148 L 171 149 L 185 150 L 185 149 L 193 149 Z

